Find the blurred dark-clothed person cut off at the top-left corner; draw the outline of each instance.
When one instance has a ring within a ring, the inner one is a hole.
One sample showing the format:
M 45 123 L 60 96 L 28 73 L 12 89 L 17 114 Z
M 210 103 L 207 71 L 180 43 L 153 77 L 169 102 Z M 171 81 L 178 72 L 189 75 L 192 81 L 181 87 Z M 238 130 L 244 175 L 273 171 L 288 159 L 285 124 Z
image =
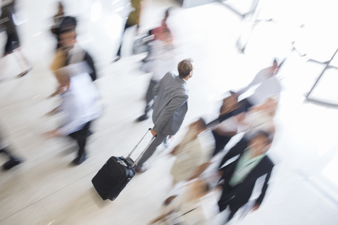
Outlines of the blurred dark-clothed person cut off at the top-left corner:
M 4 26 L 7 34 L 7 42 L 5 46 L 4 57 L 7 56 L 8 54 L 15 53 L 15 56 L 18 57 L 20 65 L 22 65 L 24 68 L 24 71 L 20 72 L 18 77 L 23 77 L 27 75 L 27 73 L 30 72 L 30 70 L 32 70 L 32 66 L 30 65 L 30 63 L 20 50 L 20 41 L 14 20 L 15 0 L 2 0 L 2 2 L 0 3 L 1 3 L 0 25 Z

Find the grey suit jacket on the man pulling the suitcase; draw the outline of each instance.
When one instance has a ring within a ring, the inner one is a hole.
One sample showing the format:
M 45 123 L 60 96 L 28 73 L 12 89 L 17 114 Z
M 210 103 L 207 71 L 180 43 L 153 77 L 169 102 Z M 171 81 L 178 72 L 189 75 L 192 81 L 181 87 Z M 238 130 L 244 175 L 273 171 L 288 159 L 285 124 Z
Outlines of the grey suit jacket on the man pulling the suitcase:
M 189 90 L 187 82 L 168 72 L 153 89 L 154 131 L 166 135 L 175 135 L 180 129 L 188 110 Z

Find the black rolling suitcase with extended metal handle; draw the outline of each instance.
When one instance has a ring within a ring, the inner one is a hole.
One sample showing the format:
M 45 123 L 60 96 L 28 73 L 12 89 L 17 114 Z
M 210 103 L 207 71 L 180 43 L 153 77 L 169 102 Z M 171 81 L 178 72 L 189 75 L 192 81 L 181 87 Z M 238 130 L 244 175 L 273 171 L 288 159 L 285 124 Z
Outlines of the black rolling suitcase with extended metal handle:
M 151 128 L 149 128 L 149 131 L 150 130 Z M 148 134 L 149 131 L 147 131 L 146 134 Z M 139 143 L 142 142 L 146 134 L 144 134 Z M 154 141 L 155 137 L 156 136 L 151 139 L 149 145 L 146 146 L 137 160 L 133 161 L 130 158 L 130 155 L 132 155 L 137 146 L 139 146 L 139 143 L 137 143 L 127 158 L 122 156 L 113 156 L 109 158 L 106 164 L 99 170 L 99 172 L 97 172 L 97 174 L 92 179 L 92 183 L 97 193 L 99 193 L 103 200 L 110 199 L 113 201 L 118 197 L 120 192 L 123 191 L 123 188 L 125 188 L 125 186 L 135 175 L 134 167 L 137 165 L 137 162 L 142 157 L 146 149 L 149 148 L 151 143 Z

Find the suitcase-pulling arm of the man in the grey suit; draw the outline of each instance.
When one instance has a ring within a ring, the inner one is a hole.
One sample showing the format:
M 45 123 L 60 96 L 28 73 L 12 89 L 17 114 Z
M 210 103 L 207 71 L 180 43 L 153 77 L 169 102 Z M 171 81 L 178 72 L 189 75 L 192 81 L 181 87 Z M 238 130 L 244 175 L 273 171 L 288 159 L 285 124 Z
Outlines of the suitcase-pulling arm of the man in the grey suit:
M 169 120 L 170 117 L 188 100 L 189 96 L 176 96 L 174 97 L 170 103 L 165 106 L 161 115 L 158 117 L 153 130 L 157 133 L 161 132 L 165 123 Z

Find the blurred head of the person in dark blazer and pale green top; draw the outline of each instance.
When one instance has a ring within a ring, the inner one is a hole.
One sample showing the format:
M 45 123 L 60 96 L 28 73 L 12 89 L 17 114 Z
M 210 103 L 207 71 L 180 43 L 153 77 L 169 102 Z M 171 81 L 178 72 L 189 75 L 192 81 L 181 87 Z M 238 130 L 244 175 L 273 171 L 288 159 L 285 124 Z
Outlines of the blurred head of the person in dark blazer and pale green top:
M 261 155 L 268 151 L 272 143 L 270 134 L 265 131 L 256 131 L 249 141 L 251 150 L 254 151 L 254 155 Z

